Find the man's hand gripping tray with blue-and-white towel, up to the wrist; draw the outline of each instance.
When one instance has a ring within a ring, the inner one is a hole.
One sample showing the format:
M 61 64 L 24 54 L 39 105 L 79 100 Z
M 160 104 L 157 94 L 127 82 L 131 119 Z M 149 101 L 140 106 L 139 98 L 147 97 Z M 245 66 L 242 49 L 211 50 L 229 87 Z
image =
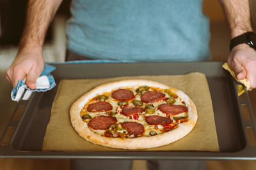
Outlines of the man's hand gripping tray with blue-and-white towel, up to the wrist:
M 36 79 L 44 69 L 44 58 L 41 50 L 20 51 L 12 65 L 6 71 L 6 79 L 15 87 L 18 80 L 26 78 L 29 89 L 36 88 Z

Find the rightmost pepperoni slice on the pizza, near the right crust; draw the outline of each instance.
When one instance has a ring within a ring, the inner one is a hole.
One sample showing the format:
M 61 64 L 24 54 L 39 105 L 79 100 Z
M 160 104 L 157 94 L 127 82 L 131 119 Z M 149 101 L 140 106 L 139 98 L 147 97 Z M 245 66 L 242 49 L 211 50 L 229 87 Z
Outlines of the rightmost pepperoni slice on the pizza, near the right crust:
M 161 104 L 159 107 L 163 113 L 170 114 L 170 115 L 177 115 L 179 113 L 187 112 L 188 108 L 183 105 L 176 105 L 176 104 Z

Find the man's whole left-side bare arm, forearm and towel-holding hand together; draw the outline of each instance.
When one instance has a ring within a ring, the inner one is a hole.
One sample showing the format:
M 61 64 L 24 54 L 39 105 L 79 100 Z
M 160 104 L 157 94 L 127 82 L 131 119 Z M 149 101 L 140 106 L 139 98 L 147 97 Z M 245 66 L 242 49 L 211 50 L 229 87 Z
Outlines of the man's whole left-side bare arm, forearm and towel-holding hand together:
M 44 69 L 42 46 L 49 24 L 62 0 L 28 0 L 26 22 L 19 44 L 19 53 L 6 71 L 13 87 L 26 78 L 29 89 L 36 88 L 36 79 Z

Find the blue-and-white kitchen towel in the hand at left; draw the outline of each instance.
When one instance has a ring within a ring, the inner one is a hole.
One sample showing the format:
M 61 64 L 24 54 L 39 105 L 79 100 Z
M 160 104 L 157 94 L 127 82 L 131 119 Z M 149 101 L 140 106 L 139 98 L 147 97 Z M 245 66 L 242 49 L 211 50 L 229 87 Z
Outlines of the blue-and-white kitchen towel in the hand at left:
M 24 94 L 24 97 L 22 98 L 23 100 L 28 100 L 32 92 L 45 92 L 47 90 L 51 90 L 53 87 L 56 86 L 54 78 L 50 74 L 52 71 L 54 71 L 54 69 L 56 69 L 56 67 L 45 64 L 44 70 L 40 74 L 39 78 L 36 80 L 36 89 L 34 90 L 31 90 L 26 86 L 26 78 L 24 78 L 24 80 L 19 80 L 17 86 L 14 87 L 14 89 L 12 90 L 12 100 L 19 101 L 25 89 L 27 90 Z

